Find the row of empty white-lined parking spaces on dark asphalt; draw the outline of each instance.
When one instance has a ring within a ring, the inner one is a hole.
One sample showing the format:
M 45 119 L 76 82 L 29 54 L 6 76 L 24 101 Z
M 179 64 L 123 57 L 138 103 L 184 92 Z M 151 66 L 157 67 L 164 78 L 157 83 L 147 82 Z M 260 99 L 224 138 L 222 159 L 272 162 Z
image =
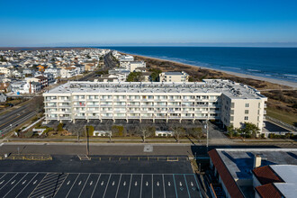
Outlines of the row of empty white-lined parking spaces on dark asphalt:
M 2 197 L 202 197 L 194 174 L 0 173 Z

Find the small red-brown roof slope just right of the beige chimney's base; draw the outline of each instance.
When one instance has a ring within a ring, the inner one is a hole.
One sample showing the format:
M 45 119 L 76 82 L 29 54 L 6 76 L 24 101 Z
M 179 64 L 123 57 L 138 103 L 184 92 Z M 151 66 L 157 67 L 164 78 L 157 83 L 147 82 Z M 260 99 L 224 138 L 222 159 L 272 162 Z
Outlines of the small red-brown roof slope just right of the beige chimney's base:
M 253 174 L 261 184 L 284 182 L 281 177 L 275 174 L 275 171 L 270 166 L 257 167 L 253 170 Z

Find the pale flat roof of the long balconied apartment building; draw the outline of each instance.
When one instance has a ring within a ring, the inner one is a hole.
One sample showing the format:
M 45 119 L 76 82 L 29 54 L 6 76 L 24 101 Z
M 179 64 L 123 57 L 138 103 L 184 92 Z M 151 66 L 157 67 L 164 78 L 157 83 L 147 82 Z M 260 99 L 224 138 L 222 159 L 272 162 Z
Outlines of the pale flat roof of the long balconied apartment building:
M 203 82 L 191 83 L 70 81 L 49 90 L 48 93 L 207 93 L 216 95 L 225 94 L 232 99 L 266 98 L 250 86 L 220 79 L 206 79 Z

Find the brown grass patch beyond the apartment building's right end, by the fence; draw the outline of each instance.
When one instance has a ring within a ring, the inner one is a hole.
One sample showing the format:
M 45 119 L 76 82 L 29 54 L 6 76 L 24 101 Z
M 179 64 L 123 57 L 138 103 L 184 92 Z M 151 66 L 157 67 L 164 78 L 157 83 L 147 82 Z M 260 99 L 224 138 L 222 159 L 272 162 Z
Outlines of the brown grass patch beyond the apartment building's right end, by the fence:
M 293 112 L 284 112 L 273 108 L 266 108 L 267 115 L 278 119 L 280 121 L 284 121 L 285 123 L 291 124 L 293 126 L 297 125 L 297 117 Z

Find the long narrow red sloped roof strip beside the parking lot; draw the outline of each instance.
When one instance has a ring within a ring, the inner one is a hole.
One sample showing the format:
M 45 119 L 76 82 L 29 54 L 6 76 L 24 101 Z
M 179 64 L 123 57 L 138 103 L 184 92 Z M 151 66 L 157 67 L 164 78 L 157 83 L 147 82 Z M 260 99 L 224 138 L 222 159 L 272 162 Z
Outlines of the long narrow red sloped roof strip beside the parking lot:
M 224 162 L 221 160 L 218 151 L 216 149 L 212 149 L 208 152 L 208 154 L 211 157 L 213 166 L 217 169 L 222 182 L 226 186 L 229 195 L 231 197 L 244 198 L 245 196 L 238 187 L 238 184 L 234 181 L 233 176 L 229 173 L 227 166 L 225 166 Z

